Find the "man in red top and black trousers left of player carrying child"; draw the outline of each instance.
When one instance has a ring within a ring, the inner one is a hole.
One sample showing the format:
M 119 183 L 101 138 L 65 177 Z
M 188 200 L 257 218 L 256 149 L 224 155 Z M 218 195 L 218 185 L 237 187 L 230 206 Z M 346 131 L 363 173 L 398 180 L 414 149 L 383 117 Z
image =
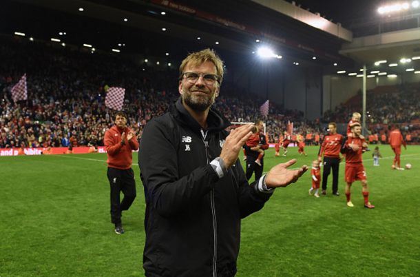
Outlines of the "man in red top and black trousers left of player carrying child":
M 333 194 L 339 196 L 338 193 L 338 170 L 339 163 L 344 157 L 340 158 L 340 149 L 342 147 L 343 136 L 337 134 L 337 124 L 331 122 L 328 125 L 330 134 L 324 136 L 324 140 L 319 148 L 318 161 L 322 162 L 322 153 L 324 152 L 324 173 L 322 174 L 322 194 L 326 194 L 326 181 L 330 170 L 333 168 Z

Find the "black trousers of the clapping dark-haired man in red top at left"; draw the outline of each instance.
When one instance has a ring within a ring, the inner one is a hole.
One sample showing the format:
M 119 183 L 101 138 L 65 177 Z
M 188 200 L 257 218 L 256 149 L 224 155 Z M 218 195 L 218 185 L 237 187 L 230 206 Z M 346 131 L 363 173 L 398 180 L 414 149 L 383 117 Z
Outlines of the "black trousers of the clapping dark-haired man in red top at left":
M 137 195 L 134 171 L 131 168 L 118 170 L 118 168 L 108 167 L 107 176 L 111 187 L 111 222 L 120 224 L 121 212 L 129 209 Z M 120 192 L 124 194 L 121 203 Z

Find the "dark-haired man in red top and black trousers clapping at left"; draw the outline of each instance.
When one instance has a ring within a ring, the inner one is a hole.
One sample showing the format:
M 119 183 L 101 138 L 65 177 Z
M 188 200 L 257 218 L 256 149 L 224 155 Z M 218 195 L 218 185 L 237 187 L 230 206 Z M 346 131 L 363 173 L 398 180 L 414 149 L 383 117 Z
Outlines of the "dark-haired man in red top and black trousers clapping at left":
M 117 112 L 115 125 L 105 132 L 103 139 L 107 149 L 109 185 L 111 186 L 111 221 L 115 225 L 116 234 L 123 234 L 121 212 L 129 209 L 136 198 L 136 179 L 132 170 L 132 150 L 138 150 L 136 134 L 126 127 L 127 115 Z M 120 203 L 120 192 L 124 198 Z

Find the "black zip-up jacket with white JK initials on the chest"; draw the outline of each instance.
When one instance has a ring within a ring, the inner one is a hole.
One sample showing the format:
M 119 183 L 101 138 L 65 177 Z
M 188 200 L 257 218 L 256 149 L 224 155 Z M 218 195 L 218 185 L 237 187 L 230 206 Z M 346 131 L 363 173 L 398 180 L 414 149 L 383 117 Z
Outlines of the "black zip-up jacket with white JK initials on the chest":
M 149 121 L 138 151 L 145 188 L 147 277 L 231 277 L 236 273 L 241 218 L 269 200 L 246 181 L 240 161 L 219 178 L 209 164 L 220 156 L 230 125 L 210 109 L 201 125 L 182 105 Z

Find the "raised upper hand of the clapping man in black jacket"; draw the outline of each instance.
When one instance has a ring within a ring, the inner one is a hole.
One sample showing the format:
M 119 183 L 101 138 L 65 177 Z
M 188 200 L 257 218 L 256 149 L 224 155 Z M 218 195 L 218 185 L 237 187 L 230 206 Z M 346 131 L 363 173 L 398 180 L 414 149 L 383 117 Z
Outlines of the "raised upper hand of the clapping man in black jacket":
M 222 158 L 227 168 L 231 167 L 238 159 L 242 145 L 252 135 L 252 128 L 253 124 L 243 125 L 232 130 L 231 134 L 227 136 L 226 141 L 224 141 L 222 153 L 220 154 L 220 158 Z

